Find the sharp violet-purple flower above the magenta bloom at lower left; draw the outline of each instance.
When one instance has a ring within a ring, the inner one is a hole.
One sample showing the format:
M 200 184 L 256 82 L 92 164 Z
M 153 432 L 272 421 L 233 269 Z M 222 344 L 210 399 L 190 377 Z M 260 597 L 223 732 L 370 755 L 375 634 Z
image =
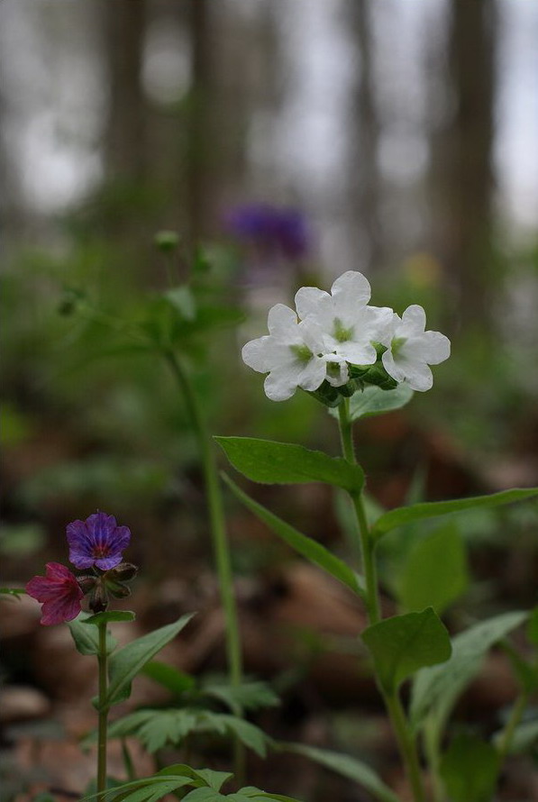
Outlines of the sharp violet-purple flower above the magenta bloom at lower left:
M 69 560 L 77 568 L 95 565 L 109 570 L 123 560 L 123 549 L 130 540 L 127 526 L 118 526 L 114 515 L 98 512 L 86 521 L 68 524 Z

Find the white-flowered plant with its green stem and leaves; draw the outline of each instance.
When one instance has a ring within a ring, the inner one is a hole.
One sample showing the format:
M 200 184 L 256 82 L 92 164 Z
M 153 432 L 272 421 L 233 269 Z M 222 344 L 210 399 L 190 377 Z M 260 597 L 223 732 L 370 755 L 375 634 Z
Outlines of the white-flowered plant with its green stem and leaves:
M 381 415 L 404 406 L 414 391 L 430 389 L 433 385 L 430 365 L 437 365 L 450 355 L 448 338 L 439 332 L 426 331 L 422 306 L 410 305 L 400 317 L 388 307 L 369 305 L 369 299 L 369 282 L 353 271 L 334 281 L 331 294 L 317 287 L 302 287 L 296 293 L 296 312 L 283 304 L 273 306 L 269 310 L 269 335 L 248 342 L 242 349 L 245 363 L 267 374 L 264 388 L 271 401 L 285 401 L 300 388 L 328 408 L 338 420 L 342 457 L 292 443 L 250 437 L 216 438 L 233 467 L 253 481 L 324 482 L 346 491 L 352 508 L 351 540 L 355 551 L 352 563 L 360 566 L 360 570 L 269 512 L 231 478 L 225 480 L 242 504 L 283 541 L 362 599 L 369 626 L 360 637 L 369 652 L 415 802 L 427 798 L 419 754 L 421 741 L 435 802 L 442 802 L 447 795 L 452 802 L 486 802 L 497 784 L 502 762 L 515 743 L 526 701 L 538 687 L 536 659 L 524 661 L 509 643 L 506 645 L 515 662 L 521 695 L 504 728 L 493 740 L 473 733 L 464 739 L 456 737 L 443 751 L 443 737 L 451 710 L 461 691 L 479 671 L 484 654 L 495 643 L 506 643 L 507 635 L 523 624 L 528 614 L 497 615 L 451 639 L 433 606 L 441 609 L 438 600 L 450 599 L 452 591 L 439 588 L 440 593 L 432 593 L 427 603 L 430 606 L 383 618 L 376 552 L 384 535 L 399 527 L 477 507 L 523 501 L 538 495 L 538 489 L 416 503 L 369 516 L 365 476 L 355 456 L 352 424 L 361 417 Z M 415 595 L 421 600 L 427 596 L 428 587 L 447 582 L 443 579 L 442 564 L 441 570 L 435 563 L 430 563 L 426 570 L 430 573 L 426 577 L 429 585 L 423 582 L 425 593 Z M 409 593 L 407 597 L 413 599 L 414 595 Z M 535 613 L 532 621 L 529 639 L 536 644 Z M 406 710 L 400 690 L 407 679 L 412 679 L 413 684 Z M 536 735 L 536 722 L 533 727 Z M 379 800 L 395 802 L 397 798 L 360 761 L 300 744 L 289 748 L 356 779 Z

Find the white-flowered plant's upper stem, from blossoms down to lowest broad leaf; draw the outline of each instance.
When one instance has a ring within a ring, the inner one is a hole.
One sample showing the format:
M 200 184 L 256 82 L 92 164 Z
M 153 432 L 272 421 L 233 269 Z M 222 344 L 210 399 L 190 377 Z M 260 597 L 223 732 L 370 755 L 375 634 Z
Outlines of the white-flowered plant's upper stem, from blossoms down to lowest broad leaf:
M 340 423 L 340 439 L 342 442 L 342 453 L 344 459 L 353 464 L 357 463 L 355 450 L 353 448 L 353 436 L 350 420 L 350 399 L 344 398 L 338 407 Z M 362 570 L 364 571 L 364 582 L 366 590 L 366 606 L 369 615 L 369 623 L 377 624 L 381 618 L 378 598 L 378 573 L 374 547 L 369 536 L 369 526 L 366 520 L 364 500 L 362 493 L 350 493 L 351 502 L 355 512 L 357 527 L 354 532 L 354 542 L 357 556 L 360 557 Z

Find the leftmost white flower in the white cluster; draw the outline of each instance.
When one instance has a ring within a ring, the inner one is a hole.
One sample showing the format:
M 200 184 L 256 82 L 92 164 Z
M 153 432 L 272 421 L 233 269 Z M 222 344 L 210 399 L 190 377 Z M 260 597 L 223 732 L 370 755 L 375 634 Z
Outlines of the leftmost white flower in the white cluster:
M 269 309 L 268 327 L 268 335 L 247 342 L 242 359 L 249 368 L 269 373 L 264 388 L 271 401 L 286 401 L 297 387 L 317 390 L 325 378 L 334 387 L 345 384 L 345 360 L 326 354 L 323 332 L 315 321 L 297 324 L 295 312 L 277 304 Z

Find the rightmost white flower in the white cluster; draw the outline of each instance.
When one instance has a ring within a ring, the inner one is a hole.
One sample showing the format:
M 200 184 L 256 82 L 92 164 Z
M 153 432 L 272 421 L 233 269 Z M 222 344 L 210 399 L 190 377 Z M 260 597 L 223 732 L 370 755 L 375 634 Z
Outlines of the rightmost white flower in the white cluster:
M 422 306 L 407 306 L 402 317 L 394 313 L 388 351 L 382 356 L 389 376 L 405 381 L 413 390 L 424 392 L 433 385 L 428 365 L 438 365 L 451 355 L 451 341 L 440 332 L 425 332 Z

